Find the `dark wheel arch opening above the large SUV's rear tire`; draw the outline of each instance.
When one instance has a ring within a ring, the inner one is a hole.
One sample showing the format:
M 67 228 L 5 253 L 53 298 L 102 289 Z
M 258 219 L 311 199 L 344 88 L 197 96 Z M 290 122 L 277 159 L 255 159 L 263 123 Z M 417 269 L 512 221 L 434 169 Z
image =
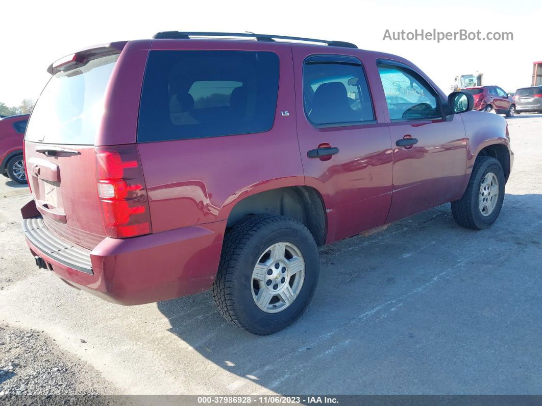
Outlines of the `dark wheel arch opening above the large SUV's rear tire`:
M 318 246 L 326 241 L 327 216 L 324 199 L 320 192 L 311 186 L 283 186 L 243 197 L 229 210 L 226 227 L 234 227 L 246 216 L 256 214 L 278 214 L 295 218 L 311 231 Z

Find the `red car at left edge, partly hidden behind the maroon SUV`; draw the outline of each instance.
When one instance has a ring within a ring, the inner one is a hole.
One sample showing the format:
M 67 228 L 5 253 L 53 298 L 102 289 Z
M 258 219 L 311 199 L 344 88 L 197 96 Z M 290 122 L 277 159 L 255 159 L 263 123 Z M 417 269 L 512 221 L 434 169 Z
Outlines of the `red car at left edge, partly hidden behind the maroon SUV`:
M 23 138 L 30 114 L 0 120 L 0 173 L 17 183 L 27 183 L 23 162 Z

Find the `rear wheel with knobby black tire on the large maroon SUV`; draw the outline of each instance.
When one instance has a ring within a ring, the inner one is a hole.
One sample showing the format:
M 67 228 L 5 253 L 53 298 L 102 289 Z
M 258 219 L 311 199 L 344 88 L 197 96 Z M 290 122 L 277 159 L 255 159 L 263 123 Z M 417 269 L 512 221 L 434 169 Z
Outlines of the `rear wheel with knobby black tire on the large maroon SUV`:
M 276 253 L 280 253 L 282 242 L 286 243 L 286 249 L 282 249 L 284 259 L 279 261 L 281 265 L 275 270 L 278 256 L 270 257 L 268 248 L 279 247 Z M 294 248 L 297 255 L 293 255 Z M 288 256 L 292 257 L 288 260 Z M 291 263 L 294 266 L 291 267 Z M 304 265 L 302 271 L 300 264 Z M 299 268 L 297 273 L 294 273 L 295 266 Z M 286 267 L 288 269 L 285 270 Z M 254 278 L 256 268 L 261 269 L 261 280 Z M 212 295 L 226 320 L 243 330 L 266 336 L 291 325 L 305 311 L 318 283 L 319 268 L 318 247 L 305 225 L 285 216 L 251 216 L 237 224 L 224 238 Z M 269 271 L 272 276 L 269 276 Z M 282 275 L 286 275 L 288 280 Z M 282 279 L 285 281 L 278 287 Z M 270 286 L 269 280 L 272 281 Z M 289 291 L 286 286 L 290 286 Z M 270 289 L 273 288 L 279 291 L 269 302 L 260 300 L 265 298 L 264 294 L 272 294 Z M 282 295 L 290 291 L 296 294 L 288 304 L 287 300 L 282 301 Z M 265 305 L 257 305 L 256 300 Z M 270 310 L 264 311 L 260 306 Z

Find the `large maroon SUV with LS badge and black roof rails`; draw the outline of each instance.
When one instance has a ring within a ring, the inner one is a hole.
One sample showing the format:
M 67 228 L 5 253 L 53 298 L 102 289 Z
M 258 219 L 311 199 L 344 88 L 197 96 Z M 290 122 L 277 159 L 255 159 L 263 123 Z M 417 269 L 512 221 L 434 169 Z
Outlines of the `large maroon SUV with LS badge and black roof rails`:
M 513 163 L 472 95 L 347 42 L 173 31 L 48 71 L 24 146 L 37 265 L 124 305 L 212 288 L 255 334 L 305 310 L 322 244 L 447 202 L 488 227 Z

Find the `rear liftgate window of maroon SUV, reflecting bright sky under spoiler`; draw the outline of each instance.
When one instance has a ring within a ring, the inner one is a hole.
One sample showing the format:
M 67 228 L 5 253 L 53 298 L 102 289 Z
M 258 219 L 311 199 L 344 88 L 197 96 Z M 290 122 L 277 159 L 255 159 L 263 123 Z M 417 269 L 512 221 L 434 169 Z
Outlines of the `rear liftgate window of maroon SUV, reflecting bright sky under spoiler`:
M 104 95 L 119 54 L 59 72 L 43 89 L 25 138 L 55 144 L 93 145 L 104 111 Z

